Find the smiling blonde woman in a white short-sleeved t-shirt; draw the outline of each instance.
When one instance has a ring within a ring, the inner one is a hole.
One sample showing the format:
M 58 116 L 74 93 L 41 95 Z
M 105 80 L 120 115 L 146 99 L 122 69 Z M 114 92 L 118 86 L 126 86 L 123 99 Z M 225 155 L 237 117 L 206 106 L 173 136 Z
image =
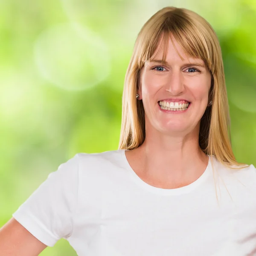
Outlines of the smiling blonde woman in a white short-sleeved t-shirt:
M 0 255 L 67 239 L 79 256 L 256 255 L 256 169 L 229 139 L 212 27 L 166 7 L 141 29 L 125 77 L 119 149 L 76 154 L 0 231 Z

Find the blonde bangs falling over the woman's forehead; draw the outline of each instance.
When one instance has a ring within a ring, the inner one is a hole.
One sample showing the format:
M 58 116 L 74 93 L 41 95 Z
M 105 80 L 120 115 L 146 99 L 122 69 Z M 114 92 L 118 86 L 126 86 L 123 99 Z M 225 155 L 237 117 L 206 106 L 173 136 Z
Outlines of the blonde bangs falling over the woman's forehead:
M 147 31 L 146 38 L 148 40 L 143 42 L 142 51 L 138 58 L 138 67 L 140 69 L 146 62 L 150 61 L 153 55 L 157 55 L 161 50 L 163 50 L 162 63 L 164 64 L 168 52 L 169 39 L 171 39 L 175 47 L 172 40 L 173 36 L 183 48 L 187 58 L 200 58 L 205 62 L 209 71 L 213 73 L 214 58 L 209 42 L 210 38 L 206 38 L 203 31 L 198 29 L 195 23 L 189 20 L 189 17 L 180 17 L 172 12 L 161 23 L 157 24 L 157 27 L 159 29 Z M 184 60 L 178 51 L 177 54 Z

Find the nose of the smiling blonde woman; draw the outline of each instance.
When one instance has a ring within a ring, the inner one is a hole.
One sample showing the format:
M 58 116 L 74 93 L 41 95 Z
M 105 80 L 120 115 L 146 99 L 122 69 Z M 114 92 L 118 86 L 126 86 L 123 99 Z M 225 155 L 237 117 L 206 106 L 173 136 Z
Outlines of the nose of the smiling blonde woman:
M 173 70 L 166 81 L 166 91 L 170 92 L 172 95 L 182 93 L 185 89 L 183 82 L 183 76 L 180 70 Z

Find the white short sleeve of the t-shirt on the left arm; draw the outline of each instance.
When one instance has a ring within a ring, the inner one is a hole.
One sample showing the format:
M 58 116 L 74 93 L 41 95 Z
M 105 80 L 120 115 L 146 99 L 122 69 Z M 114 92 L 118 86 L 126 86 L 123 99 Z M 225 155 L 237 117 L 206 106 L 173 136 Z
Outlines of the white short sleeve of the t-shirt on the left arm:
M 77 204 L 79 157 L 61 164 L 13 213 L 13 217 L 33 236 L 52 247 L 73 231 Z

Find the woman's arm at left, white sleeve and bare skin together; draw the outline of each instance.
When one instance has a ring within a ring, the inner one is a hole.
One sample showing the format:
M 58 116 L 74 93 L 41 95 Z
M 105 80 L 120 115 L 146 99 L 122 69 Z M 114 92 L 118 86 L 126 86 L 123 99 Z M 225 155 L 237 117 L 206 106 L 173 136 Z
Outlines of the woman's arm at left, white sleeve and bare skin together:
M 50 173 L 0 230 L 0 256 L 35 256 L 59 239 L 69 238 L 73 231 L 77 186 L 78 157 L 73 157 Z M 11 250 L 14 253 L 9 253 Z

